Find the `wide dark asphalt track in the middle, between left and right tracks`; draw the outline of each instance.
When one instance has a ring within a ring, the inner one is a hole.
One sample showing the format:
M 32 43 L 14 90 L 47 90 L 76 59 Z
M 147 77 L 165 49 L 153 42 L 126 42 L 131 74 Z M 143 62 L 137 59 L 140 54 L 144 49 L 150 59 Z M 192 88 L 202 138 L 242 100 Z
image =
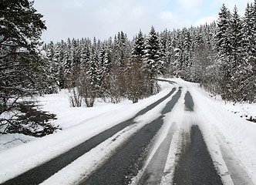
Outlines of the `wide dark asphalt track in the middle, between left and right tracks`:
M 112 157 L 102 167 L 100 167 L 90 177 L 87 177 L 81 184 L 129 184 L 132 177 L 136 176 L 143 167 L 143 162 L 149 152 L 150 144 L 154 136 L 163 125 L 165 113 L 169 113 L 180 98 L 181 89 L 163 108 L 162 115 L 151 123 L 143 126 L 129 141 L 113 154 Z

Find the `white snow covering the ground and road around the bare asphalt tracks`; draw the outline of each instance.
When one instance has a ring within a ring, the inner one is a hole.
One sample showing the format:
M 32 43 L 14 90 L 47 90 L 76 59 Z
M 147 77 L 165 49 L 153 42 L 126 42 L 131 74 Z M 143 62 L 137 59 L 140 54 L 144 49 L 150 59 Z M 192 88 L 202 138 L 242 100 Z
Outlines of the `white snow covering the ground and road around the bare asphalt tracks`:
M 231 184 L 229 177 L 224 177 L 227 167 L 224 165 L 224 160 L 222 159 L 221 151 L 218 146 L 221 141 L 224 141 L 224 143 L 221 143 L 223 147 L 228 148 L 234 153 L 234 158 L 240 161 L 239 163 L 243 169 L 250 175 L 251 180 L 256 183 L 256 158 L 254 157 L 256 153 L 256 146 L 254 145 L 254 141 L 256 140 L 256 123 L 245 120 L 248 116 L 256 118 L 256 104 L 244 103 L 233 105 L 232 103 L 224 103 L 221 99 L 211 98 L 204 89 L 198 88 L 197 84 L 184 82 L 181 79 L 175 79 L 175 81 L 179 86 L 183 87 L 184 91 L 179 103 L 177 103 L 177 106 L 174 106 L 173 111 L 168 114 L 165 121 L 168 123 L 174 121 L 180 123 L 184 121 L 184 118 L 180 118 L 180 111 L 182 112 L 184 105 L 184 94 L 187 90 L 190 91 L 195 102 L 195 110 L 194 116 L 188 115 L 186 119 L 194 119 L 194 122 L 197 122 L 200 126 L 211 156 L 216 162 L 215 165 L 223 175 L 224 182 Z M 0 160 L 0 169 L 2 170 L 0 172 L 0 183 L 54 156 L 58 156 L 59 153 L 71 149 L 73 146 L 82 143 L 84 140 L 95 136 L 97 133 L 123 120 L 129 119 L 140 109 L 147 107 L 150 103 L 167 95 L 170 89 L 177 85 L 160 82 L 160 86 L 160 93 L 150 98 L 142 99 L 139 103 L 133 104 L 127 99 L 123 99 L 123 101 L 118 104 L 104 103 L 98 100 L 92 108 L 86 108 L 85 106 L 79 108 L 70 107 L 68 92 L 66 90 L 62 90 L 58 94 L 39 97 L 38 100 L 42 109 L 57 115 L 58 119 L 54 120 L 52 124 L 56 126 L 59 125 L 62 130 L 42 138 L 24 136 L 22 134 L 1 135 L 0 158 L 2 160 Z M 145 124 L 145 120 L 150 121 L 155 119 L 170 98 L 160 103 L 160 105 L 154 109 L 153 113 L 146 113 L 141 116 L 138 120 L 139 124 L 126 128 L 125 133 L 122 131 L 120 142 L 126 140 L 135 130 L 139 130 L 140 127 Z M 164 128 L 167 128 L 167 124 L 163 125 L 163 129 Z M 180 129 L 181 128 L 180 126 Z M 163 135 L 167 134 L 167 131 L 162 130 L 162 133 Z M 160 137 L 157 143 L 160 144 L 160 141 L 163 139 L 163 136 Z M 111 138 L 109 140 L 111 140 Z M 79 178 L 79 176 L 84 174 L 66 172 L 77 172 L 79 167 L 83 167 L 84 169 L 85 166 L 83 166 L 83 163 L 88 161 L 88 159 L 91 159 L 90 161 L 92 162 L 86 164 L 86 169 L 90 170 L 92 167 L 97 167 L 102 160 L 111 154 L 109 150 L 114 149 L 118 144 L 111 143 L 109 140 L 101 143 L 95 149 L 86 153 L 86 155 L 79 157 L 79 159 L 71 163 L 69 167 L 61 170 L 62 172 L 56 173 L 54 177 L 46 180 L 45 184 L 51 184 L 52 182 L 58 184 L 56 180 L 64 180 L 64 182 L 72 183 L 72 178 Z M 173 157 L 175 156 L 175 147 L 177 146 L 175 145 L 175 140 L 177 140 L 178 143 L 177 134 L 173 136 L 174 143 L 171 144 L 170 157 L 165 168 L 169 174 L 172 173 L 170 172 L 170 168 L 173 169 Z M 93 158 L 97 158 L 99 161 L 96 162 Z M 86 173 L 89 173 L 89 170 Z M 70 176 L 65 176 L 65 174 L 70 174 Z M 63 179 L 63 177 L 65 178 Z M 163 177 L 163 182 L 164 180 L 168 180 L 168 178 L 169 177 Z M 63 183 L 63 181 L 59 181 L 59 184 L 61 183 Z

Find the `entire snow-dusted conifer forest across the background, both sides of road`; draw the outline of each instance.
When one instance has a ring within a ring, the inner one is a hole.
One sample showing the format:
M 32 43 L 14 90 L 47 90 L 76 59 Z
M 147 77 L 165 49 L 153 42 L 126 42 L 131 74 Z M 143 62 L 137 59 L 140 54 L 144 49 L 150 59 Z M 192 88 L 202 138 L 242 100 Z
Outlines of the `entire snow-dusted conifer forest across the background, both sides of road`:
M 198 27 L 163 30 L 152 27 L 129 40 L 124 32 L 100 41 L 68 39 L 44 45 L 52 93 L 72 89 L 73 106 L 82 99 L 93 106 L 96 97 L 118 103 L 157 93 L 157 76 L 198 82 L 223 99 L 256 99 L 256 6 L 248 4 L 244 17 L 221 7 L 217 22 Z

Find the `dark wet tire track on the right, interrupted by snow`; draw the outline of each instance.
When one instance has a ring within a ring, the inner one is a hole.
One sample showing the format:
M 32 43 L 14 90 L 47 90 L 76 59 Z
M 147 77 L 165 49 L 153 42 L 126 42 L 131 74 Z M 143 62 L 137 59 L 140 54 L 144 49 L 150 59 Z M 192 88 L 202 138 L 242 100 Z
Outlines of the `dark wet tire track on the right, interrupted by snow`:
M 189 92 L 184 99 L 185 110 L 193 112 L 194 101 Z M 187 146 L 183 146 L 184 150 L 174 171 L 173 184 L 222 185 L 198 126 L 191 126 L 190 139 L 186 139 L 184 143 Z

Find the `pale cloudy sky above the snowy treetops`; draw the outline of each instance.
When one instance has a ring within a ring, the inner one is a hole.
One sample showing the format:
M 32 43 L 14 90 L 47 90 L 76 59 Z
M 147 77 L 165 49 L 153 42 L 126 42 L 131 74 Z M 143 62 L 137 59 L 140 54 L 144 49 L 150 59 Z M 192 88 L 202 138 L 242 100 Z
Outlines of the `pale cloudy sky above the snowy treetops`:
M 35 9 L 44 15 L 47 31 L 42 40 L 108 39 L 125 32 L 130 39 L 140 29 L 148 34 L 151 25 L 182 29 L 217 19 L 224 3 L 231 11 L 237 5 L 240 15 L 253 0 L 35 0 Z

